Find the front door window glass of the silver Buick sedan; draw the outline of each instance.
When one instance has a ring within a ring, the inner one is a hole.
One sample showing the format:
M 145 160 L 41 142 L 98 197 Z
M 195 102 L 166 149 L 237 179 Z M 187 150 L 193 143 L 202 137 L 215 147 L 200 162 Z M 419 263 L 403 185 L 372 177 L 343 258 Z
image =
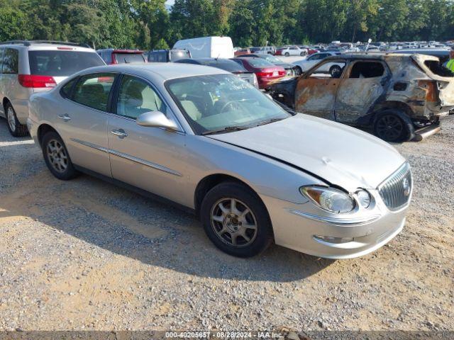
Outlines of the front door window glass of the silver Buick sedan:
M 136 119 L 142 113 L 149 111 L 166 113 L 167 108 L 155 90 L 145 81 L 123 76 L 118 91 L 116 114 Z

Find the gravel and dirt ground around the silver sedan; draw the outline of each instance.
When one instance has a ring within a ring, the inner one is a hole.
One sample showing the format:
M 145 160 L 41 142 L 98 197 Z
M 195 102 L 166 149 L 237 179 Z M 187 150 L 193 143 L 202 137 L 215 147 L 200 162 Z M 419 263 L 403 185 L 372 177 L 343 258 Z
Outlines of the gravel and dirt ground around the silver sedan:
M 416 182 L 404 231 L 346 261 L 235 259 L 185 212 L 58 181 L 0 120 L 0 330 L 454 330 L 453 118 L 396 145 Z

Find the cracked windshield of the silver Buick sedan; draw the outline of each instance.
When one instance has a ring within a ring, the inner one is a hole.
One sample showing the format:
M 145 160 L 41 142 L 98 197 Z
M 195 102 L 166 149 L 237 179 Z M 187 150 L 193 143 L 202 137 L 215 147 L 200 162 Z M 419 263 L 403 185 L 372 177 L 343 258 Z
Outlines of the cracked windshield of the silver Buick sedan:
M 166 87 L 194 132 L 251 128 L 290 116 L 253 85 L 233 74 L 213 74 L 167 81 Z

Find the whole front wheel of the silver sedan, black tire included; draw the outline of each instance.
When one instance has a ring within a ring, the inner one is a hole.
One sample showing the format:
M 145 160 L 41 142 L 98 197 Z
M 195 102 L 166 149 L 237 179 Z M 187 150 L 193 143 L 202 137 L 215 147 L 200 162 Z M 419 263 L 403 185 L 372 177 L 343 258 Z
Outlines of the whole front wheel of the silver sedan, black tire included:
M 232 256 L 260 254 L 273 239 L 265 205 L 240 183 L 225 182 L 212 188 L 201 203 L 200 217 L 211 242 Z

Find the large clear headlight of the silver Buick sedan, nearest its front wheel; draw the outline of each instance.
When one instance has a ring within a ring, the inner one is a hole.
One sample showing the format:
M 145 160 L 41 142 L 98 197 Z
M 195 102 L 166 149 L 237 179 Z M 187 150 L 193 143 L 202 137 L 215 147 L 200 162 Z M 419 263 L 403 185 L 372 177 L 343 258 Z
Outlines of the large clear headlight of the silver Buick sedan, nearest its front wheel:
M 299 191 L 323 210 L 343 214 L 355 209 L 355 200 L 335 188 L 324 186 L 302 186 Z

